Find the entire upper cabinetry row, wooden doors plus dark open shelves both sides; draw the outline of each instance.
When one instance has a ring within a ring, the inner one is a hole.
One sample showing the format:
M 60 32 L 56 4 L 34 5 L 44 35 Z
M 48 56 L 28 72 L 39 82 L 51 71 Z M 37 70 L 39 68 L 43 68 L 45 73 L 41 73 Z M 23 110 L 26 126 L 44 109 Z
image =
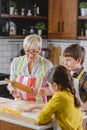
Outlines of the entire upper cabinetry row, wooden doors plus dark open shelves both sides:
M 13 13 L 9 11 L 10 1 L 16 3 Z M 81 16 L 79 8 L 80 2 L 86 1 L 0 0 L 0 36 L 24 38 L 28 34 L 37 33 L 36 23 L 44 22 L 46 30 L 42 38 L 87 39 L 87 15 Z

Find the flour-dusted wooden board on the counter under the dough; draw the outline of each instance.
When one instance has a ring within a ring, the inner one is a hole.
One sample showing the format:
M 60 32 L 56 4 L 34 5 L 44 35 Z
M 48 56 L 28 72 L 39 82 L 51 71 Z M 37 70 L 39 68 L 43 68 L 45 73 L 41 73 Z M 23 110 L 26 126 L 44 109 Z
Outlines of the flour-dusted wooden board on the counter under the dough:
M 5 116 L 7 118 L 23 121 L 25 123 L 30 124 L 38 124 L 37 117 L 40 113 L 40 110 L 33 110 L 31 112 L 21 112 L 20 108 L 29 108 L 33 105 L 37 105 L 37 103 L 29 102 L 29 101 L 22 101 L 22 100 L 11 100 L 6 102 L 0 102 L 0 115 Z M 4 111 L 4 109 L 10 110 L 10 111 Z M 15 114 L 14 111 L 18 112 L 19 114 Z

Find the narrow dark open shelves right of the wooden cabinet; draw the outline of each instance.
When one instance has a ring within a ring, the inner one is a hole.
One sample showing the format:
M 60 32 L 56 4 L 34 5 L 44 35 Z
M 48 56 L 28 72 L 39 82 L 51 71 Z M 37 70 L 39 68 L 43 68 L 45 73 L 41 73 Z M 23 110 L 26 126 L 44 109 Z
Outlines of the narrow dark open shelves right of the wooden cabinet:
M 77 27 L 77 30 L 78 30 L 78 33 L 77 33 L 77 39 L 86 39 L 87 40 L 87 36 L 86 36 L 86 32 L 85 32 L 85 24 L 87 23 L 87 4 L 86 4 L 86 13 L 85 14 L 82 14 L 81 13 L 81 6 L 80 4 L 82 2 L 86 2 L 87 3 L 87 0 L 79 0 L 78 1 L 78 27 Z

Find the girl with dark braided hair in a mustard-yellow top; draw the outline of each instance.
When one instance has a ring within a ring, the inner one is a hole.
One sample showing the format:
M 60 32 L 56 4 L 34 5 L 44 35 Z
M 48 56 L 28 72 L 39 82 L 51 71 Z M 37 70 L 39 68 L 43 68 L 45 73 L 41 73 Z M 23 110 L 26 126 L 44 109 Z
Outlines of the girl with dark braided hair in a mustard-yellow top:
M 54 66 L 48 71 L 46 82 L 53 97 L 44 106 L 33 106 L 25 111 L 44 107 L 38 116 L 40 124 L 50 122 L 54 115 L 61 130 L 82 130 L 80 103 L 75 96 L 70 72 L 62 65 Z

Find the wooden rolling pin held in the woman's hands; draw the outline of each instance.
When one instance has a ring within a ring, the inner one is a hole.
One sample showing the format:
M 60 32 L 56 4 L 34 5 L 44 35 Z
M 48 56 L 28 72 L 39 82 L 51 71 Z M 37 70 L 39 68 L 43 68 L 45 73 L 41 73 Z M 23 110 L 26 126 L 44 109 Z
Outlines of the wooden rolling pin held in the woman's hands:
M 11 81 L 11 80 L 9 80 L 7 78 L 5 78 L 4 80 L 6 82 L 8 82 L 8 83 L 11 83 L 14 88 L 18 88 L 18 89 L 23 90 L 23 91 L 25 91 L 27 93 L 33 93 L 33 90 L 31 88 L 29 88 L 26 85 L 23 85 L 23 84 L 15 81 L 15 80 Z

